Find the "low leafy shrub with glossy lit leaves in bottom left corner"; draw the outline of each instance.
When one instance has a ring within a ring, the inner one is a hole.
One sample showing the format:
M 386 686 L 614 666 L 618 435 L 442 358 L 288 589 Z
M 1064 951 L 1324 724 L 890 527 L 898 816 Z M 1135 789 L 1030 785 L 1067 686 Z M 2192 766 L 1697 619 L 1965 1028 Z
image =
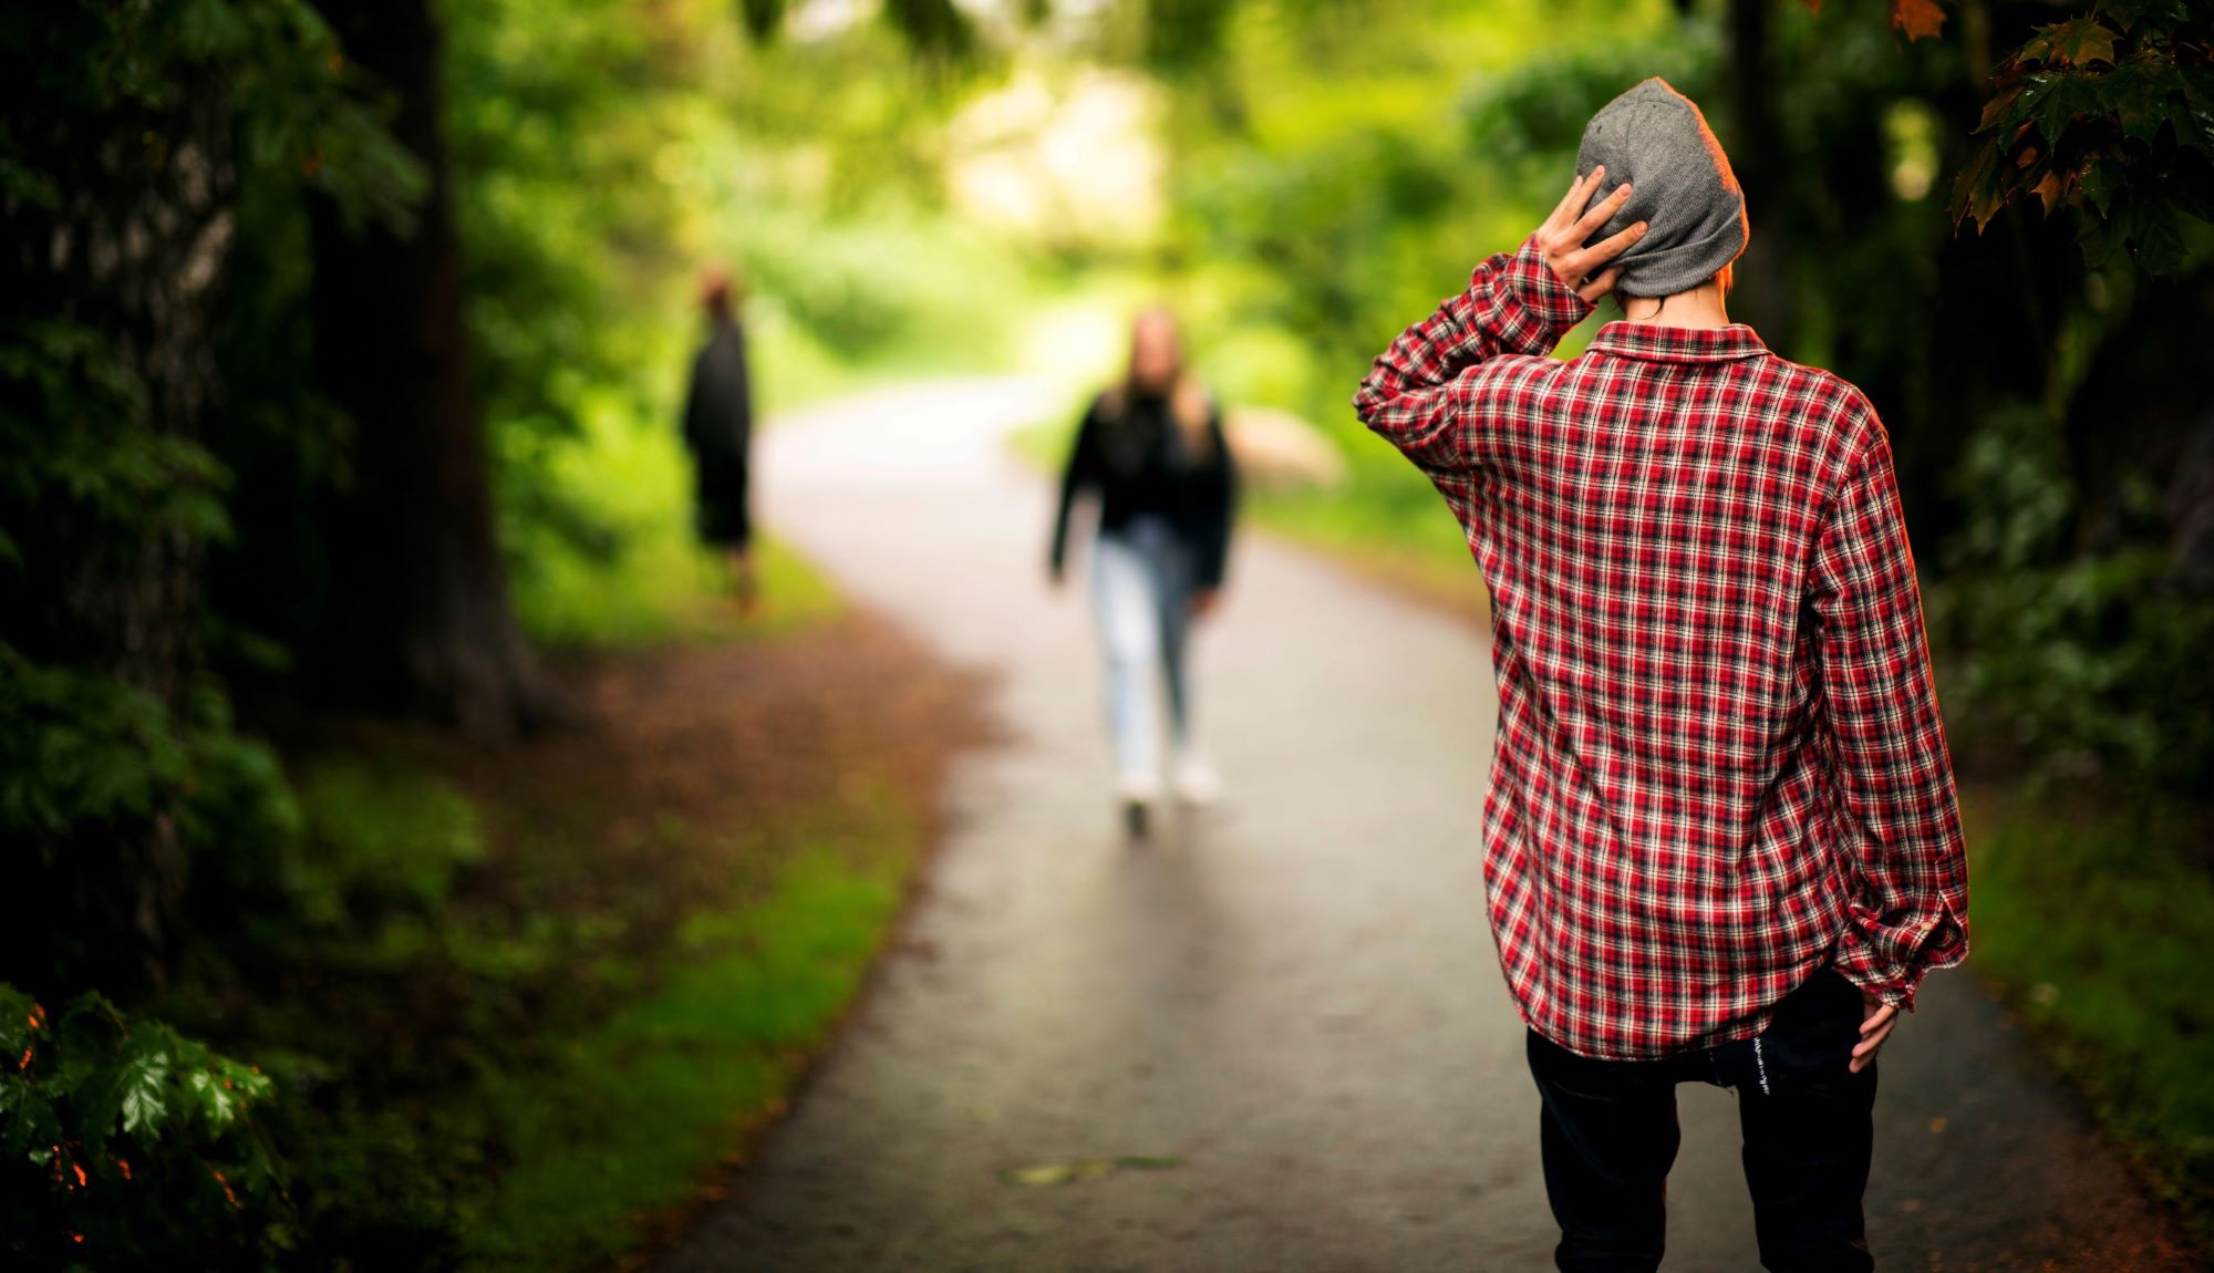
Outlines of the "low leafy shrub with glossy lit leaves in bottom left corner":
M 97 994 L 0 983 L 0 1242 L 27 1269 L 270 1269 L 290 1244 L 259 1069 Z

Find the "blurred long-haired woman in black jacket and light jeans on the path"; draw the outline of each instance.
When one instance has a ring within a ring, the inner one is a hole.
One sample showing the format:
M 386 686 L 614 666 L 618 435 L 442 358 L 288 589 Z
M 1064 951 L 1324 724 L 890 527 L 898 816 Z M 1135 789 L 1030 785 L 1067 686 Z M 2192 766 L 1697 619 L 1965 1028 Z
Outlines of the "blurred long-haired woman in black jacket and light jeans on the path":
M 1207 804 L 1218 782 L 1193 739 L 1191 622 L 1215 607 L 1231 542 L 1238 474 L 1222 414 L 1184 370 L 1167 310 L 1131 330 L 1129 374 L 1092 401 L 1061 478 L 1052 576 L 1058 584 L 1076 496 L 1098 498 L 1092 591 L 1107 651 L 1116 797 L 1131 835 L 1162 795 L 1156 695 L 1169 693 L 1169 777 L 1180 799 Z

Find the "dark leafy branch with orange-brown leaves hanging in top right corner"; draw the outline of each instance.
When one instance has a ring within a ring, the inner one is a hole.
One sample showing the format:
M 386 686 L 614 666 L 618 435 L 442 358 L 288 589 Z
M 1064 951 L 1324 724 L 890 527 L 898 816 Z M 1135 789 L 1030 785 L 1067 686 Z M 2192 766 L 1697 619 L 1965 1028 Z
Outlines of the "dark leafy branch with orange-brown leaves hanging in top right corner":
M 2214 224 L 2214 15 L 2183 0 L 2106 0 L 2039 27 L 1999 66 L 1953 188 L 1982 230 L 2037 197 L 2077 213 L 2092 268 L 2123 252 L 2150 275 L 2187 263 L 2179 217 Z

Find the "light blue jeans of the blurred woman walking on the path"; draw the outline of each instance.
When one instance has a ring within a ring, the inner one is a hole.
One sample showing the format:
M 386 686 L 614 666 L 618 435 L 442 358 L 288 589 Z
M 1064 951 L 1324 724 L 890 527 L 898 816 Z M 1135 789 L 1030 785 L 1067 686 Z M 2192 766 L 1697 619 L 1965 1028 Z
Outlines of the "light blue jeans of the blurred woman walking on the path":
M 1191 733 L 1184 646 L 1191 635 L 1191 551 L 1165 518 L 1136 518 L 1100 531 L 1092 553 L 1092 593 L 1107 651 L 1107 724 L 1125 782 L 1160 779 L 1156 677 L 1167 680 L 1169 737 Z

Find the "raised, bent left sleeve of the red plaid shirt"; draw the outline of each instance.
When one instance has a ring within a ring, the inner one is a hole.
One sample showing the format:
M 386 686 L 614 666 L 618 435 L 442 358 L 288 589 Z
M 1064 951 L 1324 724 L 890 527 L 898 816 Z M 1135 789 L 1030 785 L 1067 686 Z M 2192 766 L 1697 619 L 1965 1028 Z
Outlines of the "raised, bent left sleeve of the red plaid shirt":
M 1353 410 L 1419 467 L 1466 469 L 1468 429 L 1490 392 L 1475 372 L 1508 354 L 1550 354 L 1590 312 L 1528 239 L 1512 255 L 1486 259 L 1466 292 L 1401 332 L 1353 394 Z

